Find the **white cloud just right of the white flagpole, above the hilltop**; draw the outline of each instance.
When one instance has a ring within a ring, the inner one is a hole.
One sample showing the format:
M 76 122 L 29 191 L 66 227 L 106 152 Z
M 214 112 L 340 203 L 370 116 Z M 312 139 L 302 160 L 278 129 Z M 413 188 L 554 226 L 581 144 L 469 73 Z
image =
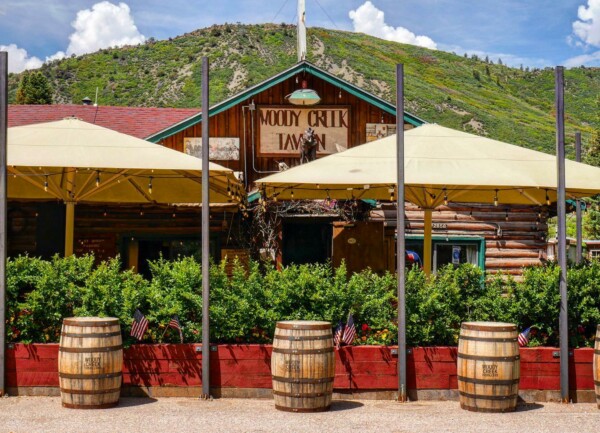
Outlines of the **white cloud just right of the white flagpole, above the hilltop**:
M 388 41 L 437 49 L 436 43 L 428 36 L 417 36 L 404 27 L 387 25 L 383 11 L 377 9 L 368 0 L 356 10 L 351 10 L 348 15 L 353 22 L 355 32 L 366 33 Z

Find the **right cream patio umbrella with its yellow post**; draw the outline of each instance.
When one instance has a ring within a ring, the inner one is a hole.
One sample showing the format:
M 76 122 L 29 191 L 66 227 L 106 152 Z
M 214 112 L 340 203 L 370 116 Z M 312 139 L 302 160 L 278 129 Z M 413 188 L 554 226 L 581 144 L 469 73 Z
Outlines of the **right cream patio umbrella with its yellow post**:
M 556 201 L 556 157 L 426 124 L 404 133 L 406 200 L 425 211 L 424 267 L 431 269 L 431 211 L 444 202 L 533 204 Z M 394 200 L 396 136 L 389 136 L 257 181 L 268 198 Z M 571 198 L 600 193 L 600 168 L 566 162 Z

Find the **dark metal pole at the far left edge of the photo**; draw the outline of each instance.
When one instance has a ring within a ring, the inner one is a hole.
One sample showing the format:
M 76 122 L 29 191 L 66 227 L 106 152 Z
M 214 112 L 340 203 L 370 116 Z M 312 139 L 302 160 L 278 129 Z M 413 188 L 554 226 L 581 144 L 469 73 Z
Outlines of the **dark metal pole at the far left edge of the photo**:
M 5 393 L 6 350 L 6 157 L 8 142 L 8 53 L 0 52 L 0 396 Z

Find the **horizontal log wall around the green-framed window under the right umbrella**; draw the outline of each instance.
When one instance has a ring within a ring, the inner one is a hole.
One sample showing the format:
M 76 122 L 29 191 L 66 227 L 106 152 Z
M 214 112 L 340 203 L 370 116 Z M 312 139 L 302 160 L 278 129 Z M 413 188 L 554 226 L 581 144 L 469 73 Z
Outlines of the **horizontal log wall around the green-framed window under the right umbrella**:
M 448 239 L 480 239 L 485 248 L 488 274 L 502 272 L 519 277 L 523 267 L 546 260 L 547 209 L 539 206 L 493 206 L 450 203 L 433 211 L 433 236 Z M 406 235 L 422 244 L 423 211 L 406 203 Z M 385 227 L 388 270 L 395 270 L 396 209 L 384 204 L 371 212 L 372 221 Z M 481 252 L 480 252 L 481 253 Z

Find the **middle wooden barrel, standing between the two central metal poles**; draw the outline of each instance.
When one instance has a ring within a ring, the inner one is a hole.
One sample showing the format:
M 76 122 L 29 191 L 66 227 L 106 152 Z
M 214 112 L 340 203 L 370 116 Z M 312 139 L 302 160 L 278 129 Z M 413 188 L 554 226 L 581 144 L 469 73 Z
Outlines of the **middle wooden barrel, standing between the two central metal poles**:
M 331 323 L 277 322 L 271 374 L 277 409 L 287 412 L 328 410 L 335 375 Z

